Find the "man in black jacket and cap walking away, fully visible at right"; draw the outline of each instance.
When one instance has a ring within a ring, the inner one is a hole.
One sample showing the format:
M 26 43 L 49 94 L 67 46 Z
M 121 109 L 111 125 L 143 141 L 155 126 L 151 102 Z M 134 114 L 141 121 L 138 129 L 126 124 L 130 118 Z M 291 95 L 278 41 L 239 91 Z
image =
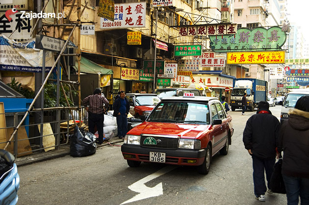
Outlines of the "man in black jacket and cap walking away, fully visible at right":
M 267 190 L 264 170 L 267 179 L 267 192 L 272 193 L 269 182 L 276 161 L 279 130 L 280 122 L 277 117 L 271 114 L 268 102 L 259 102 L 257 114 L 252 115 L 246 123 L 243 142 L 252 157 L 254 193 L 256 199 L 262 202 L 265 201 Z

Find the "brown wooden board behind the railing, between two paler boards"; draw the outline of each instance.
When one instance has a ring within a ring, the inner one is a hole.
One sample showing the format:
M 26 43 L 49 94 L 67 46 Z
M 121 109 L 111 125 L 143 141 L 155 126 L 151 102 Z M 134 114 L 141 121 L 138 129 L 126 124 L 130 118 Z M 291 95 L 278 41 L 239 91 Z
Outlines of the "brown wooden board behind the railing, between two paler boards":
M 11 137 L 12 133 L 14 132 L 14 128 L 7 128 L 6 131 L 7 131 L 7 140 L 9 140 L 9 137 Z M 17 142 L 17 153 L 32 151 L 25 127 L 20 127 L 18 129 L 17 137 L 18 140 L 25 139 Z M 14 153 L 14 142 L 11 142 L 11 144 L 9 144 L 9 146 L 7 147 L 7 151 L 9 151 L 10 153 Z M 18 154 L 17 157 L 22 157 L 31 154 L 32 152 Z

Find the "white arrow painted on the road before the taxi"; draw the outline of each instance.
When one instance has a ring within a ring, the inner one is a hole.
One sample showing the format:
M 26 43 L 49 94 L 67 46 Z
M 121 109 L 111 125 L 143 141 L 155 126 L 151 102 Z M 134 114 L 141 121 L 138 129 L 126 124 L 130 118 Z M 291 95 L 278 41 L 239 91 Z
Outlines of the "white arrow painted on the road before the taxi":
M 135 202 L 138 200 L 142 200 L 142 199 L 147 199 L 150 197 L 157 197 L 163 194 L 163 187 L 162 187 L 162 182 L 158 183 L 157 185 L 155 185 L 154 187 L 148 187 L 145 185 L 146 182 L 152 181 L 153 179 L 168 173 L 169 171 L 172 171 L 173 169 L 175 169 L 177 166 L 166 166 L 160 170 L 158 170 L 157 172 L 131 184 L 128 186 L 129 189 L 131 189 L 132 191 L 138 192 L 139 194 L 137 194 L 136 196 L 134 196 L 133 198 L 129 199 L 128 201 L 125 201 L 123 204 L 127 204 L 127 203 L 131 203 L 131 202 Z

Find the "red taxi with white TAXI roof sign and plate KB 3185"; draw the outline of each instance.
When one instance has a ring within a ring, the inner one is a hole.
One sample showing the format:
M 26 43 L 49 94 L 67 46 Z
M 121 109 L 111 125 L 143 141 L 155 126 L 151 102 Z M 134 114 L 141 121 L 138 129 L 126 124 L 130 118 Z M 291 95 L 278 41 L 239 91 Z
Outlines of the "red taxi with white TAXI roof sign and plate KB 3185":
M 121 151 L 130 167 L 157 162 L 197 166 L 207 174 L 217 152 L 228 154 L 232 134 L 232 117 L 217 98 L 166 97 L 127 133 Z

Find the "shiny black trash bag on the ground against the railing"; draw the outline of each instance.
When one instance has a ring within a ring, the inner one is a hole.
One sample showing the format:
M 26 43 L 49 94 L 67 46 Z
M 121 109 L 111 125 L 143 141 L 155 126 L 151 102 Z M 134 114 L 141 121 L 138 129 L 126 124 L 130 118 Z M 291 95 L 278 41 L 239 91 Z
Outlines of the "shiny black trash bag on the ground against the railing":
M 70 155 L 72 157 L 85 157 L 95 154 L 96 150 L 96 136 L 76 126 L 74 135 L 71 137 Z

